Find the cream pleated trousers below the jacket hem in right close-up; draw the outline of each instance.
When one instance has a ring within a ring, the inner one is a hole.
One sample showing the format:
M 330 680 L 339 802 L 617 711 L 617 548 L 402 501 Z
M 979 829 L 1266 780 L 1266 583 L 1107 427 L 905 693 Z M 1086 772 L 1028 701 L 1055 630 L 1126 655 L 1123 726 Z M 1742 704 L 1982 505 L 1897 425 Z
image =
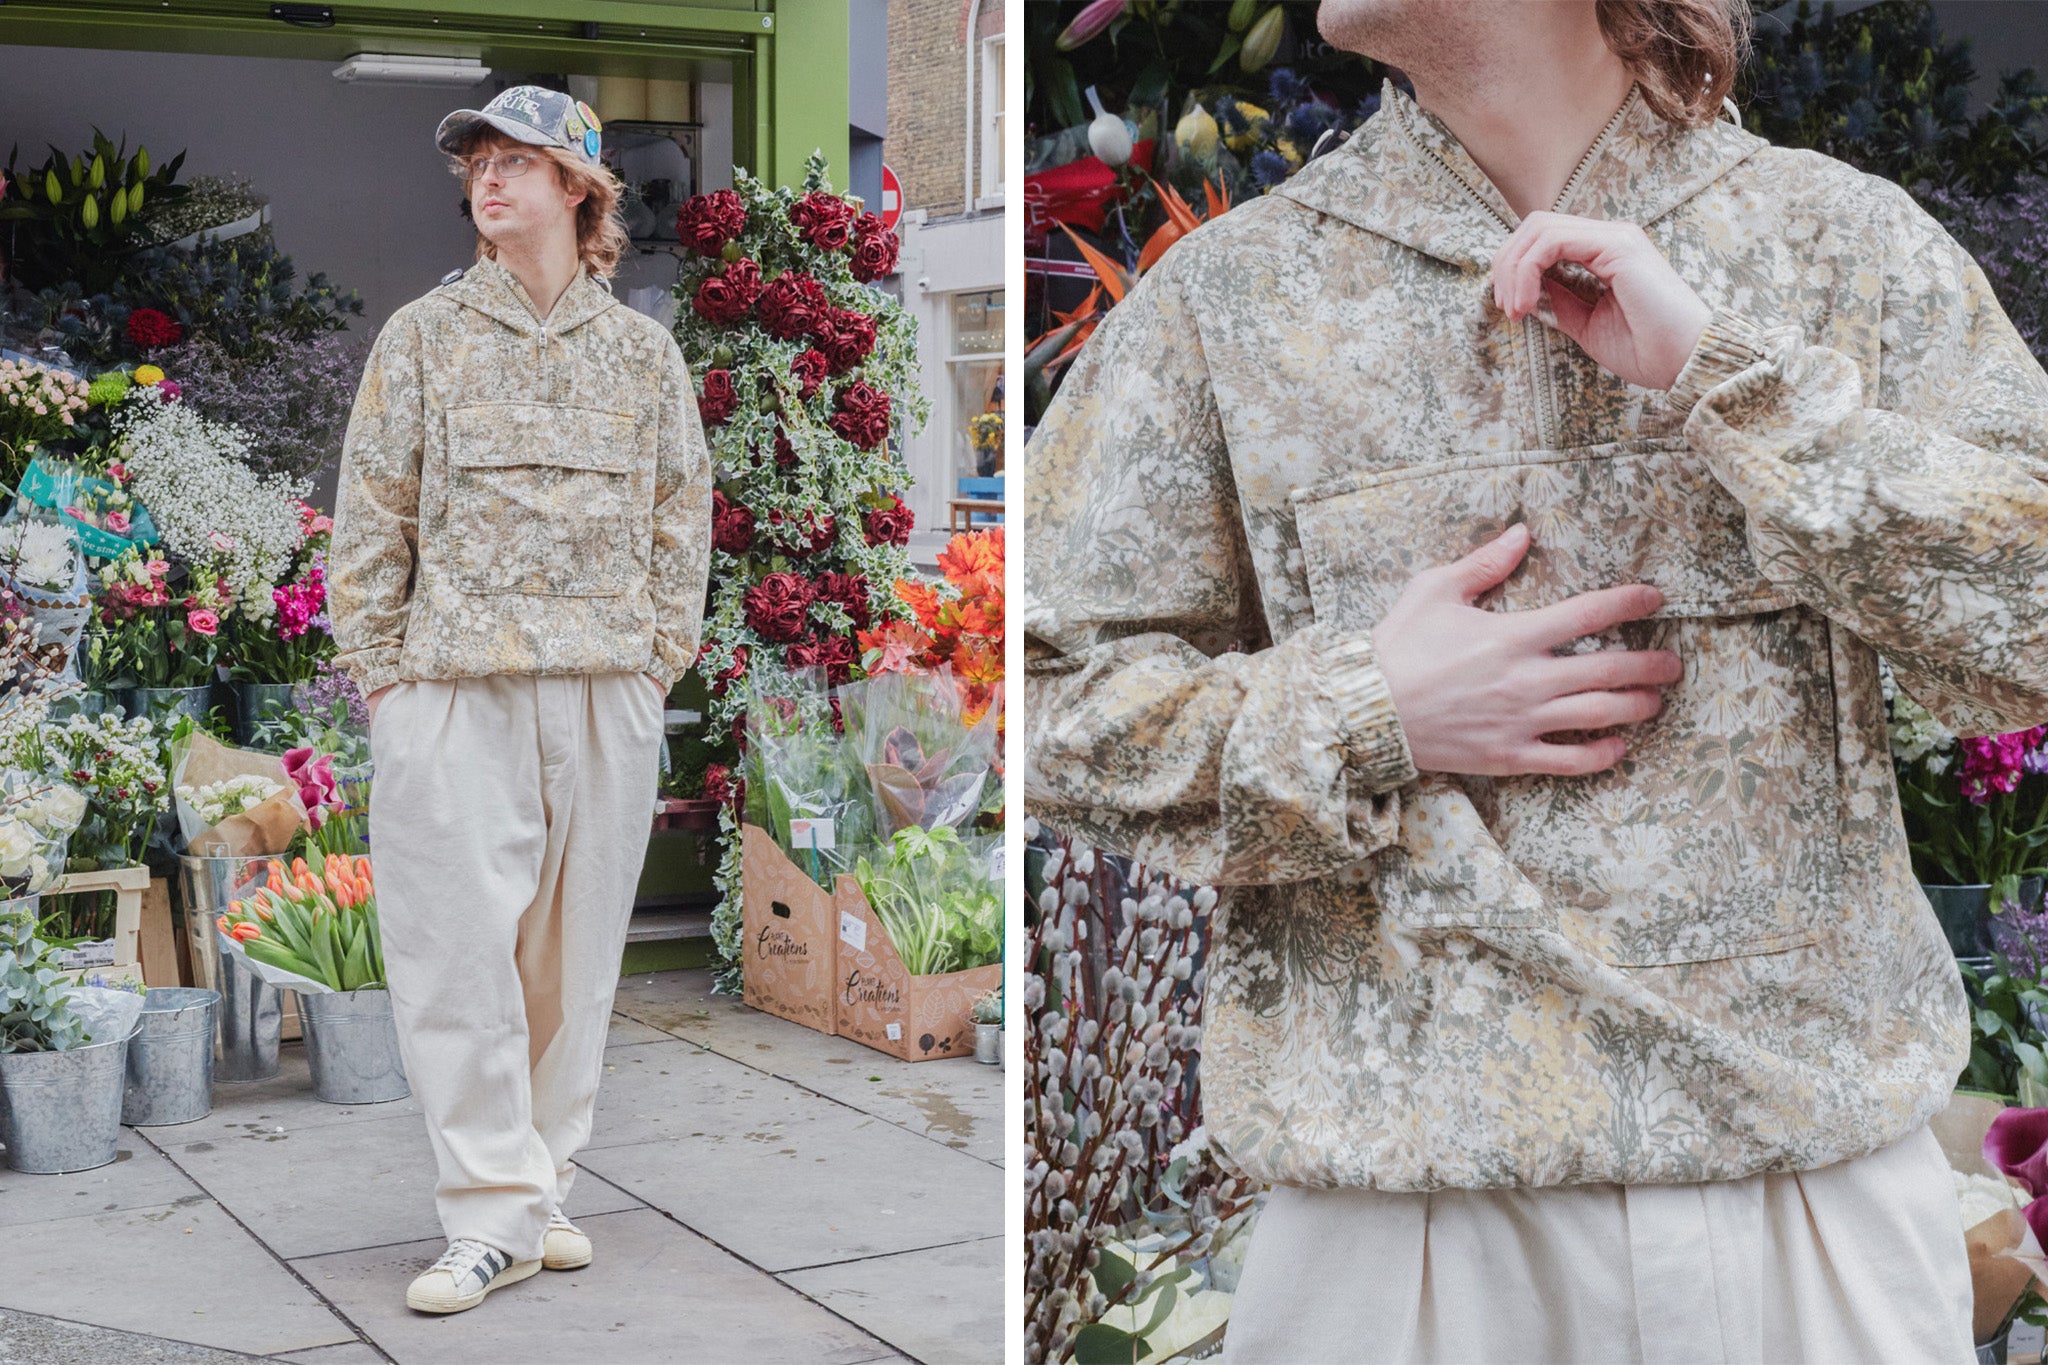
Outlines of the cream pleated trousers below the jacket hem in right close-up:
M 1700 1185 L 1280 1187 L 1225 1365 L 1968 1365 L 1970 1263 L 1929 1130 Z

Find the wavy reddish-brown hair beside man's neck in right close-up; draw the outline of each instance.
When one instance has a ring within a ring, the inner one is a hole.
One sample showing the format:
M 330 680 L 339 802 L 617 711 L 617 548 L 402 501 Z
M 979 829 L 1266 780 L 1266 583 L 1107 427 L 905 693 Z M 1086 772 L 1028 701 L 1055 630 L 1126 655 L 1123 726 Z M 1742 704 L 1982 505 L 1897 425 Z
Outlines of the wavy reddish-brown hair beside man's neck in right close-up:
M 1661 119 L 1704 127 L 1720 117 L 1749 57 L 1749 0 L 1595 0 L 1593 8 L 1599 35 Z

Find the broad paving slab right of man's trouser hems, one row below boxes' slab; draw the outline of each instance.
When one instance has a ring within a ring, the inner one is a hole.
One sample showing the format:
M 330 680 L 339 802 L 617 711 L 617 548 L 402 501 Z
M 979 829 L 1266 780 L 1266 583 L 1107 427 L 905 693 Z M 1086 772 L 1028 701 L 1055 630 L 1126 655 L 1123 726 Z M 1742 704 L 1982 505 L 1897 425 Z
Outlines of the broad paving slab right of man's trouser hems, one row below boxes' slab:
M 580 1162 L 770 1271 L 1001 1228 L 1004 1173 L 989 1162 L 715 1054 L 696 1066 L 707 1085 L 668 1089 L 657 1124 L 627 1126 L 664 1132 L 616 1146 L 600 1132 Z

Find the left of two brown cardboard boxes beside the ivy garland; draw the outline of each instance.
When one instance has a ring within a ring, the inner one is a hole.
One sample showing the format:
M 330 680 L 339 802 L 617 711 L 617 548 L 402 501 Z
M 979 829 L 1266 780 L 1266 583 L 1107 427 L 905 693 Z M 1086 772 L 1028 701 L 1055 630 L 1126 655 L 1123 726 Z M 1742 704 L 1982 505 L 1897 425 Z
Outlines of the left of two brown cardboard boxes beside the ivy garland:
M 739 827 L 741 999 L 754 1009 L 836 1031 L 836 931 L 831 894 L 758 825 Z

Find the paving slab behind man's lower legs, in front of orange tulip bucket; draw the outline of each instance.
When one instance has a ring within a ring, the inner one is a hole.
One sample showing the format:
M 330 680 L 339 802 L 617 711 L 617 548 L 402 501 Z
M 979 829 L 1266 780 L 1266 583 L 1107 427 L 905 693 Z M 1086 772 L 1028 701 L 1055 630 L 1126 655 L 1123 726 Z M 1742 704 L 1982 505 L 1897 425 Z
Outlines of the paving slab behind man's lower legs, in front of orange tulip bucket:
M 297 1132 L 242 1132 L 166 1148 L 276 1254 L 389 1246 L 440 1236 L 434 1148 L 414 1113 Z M 569 1218 L 637 1207 L 602 1181 L 569 1189 Z

